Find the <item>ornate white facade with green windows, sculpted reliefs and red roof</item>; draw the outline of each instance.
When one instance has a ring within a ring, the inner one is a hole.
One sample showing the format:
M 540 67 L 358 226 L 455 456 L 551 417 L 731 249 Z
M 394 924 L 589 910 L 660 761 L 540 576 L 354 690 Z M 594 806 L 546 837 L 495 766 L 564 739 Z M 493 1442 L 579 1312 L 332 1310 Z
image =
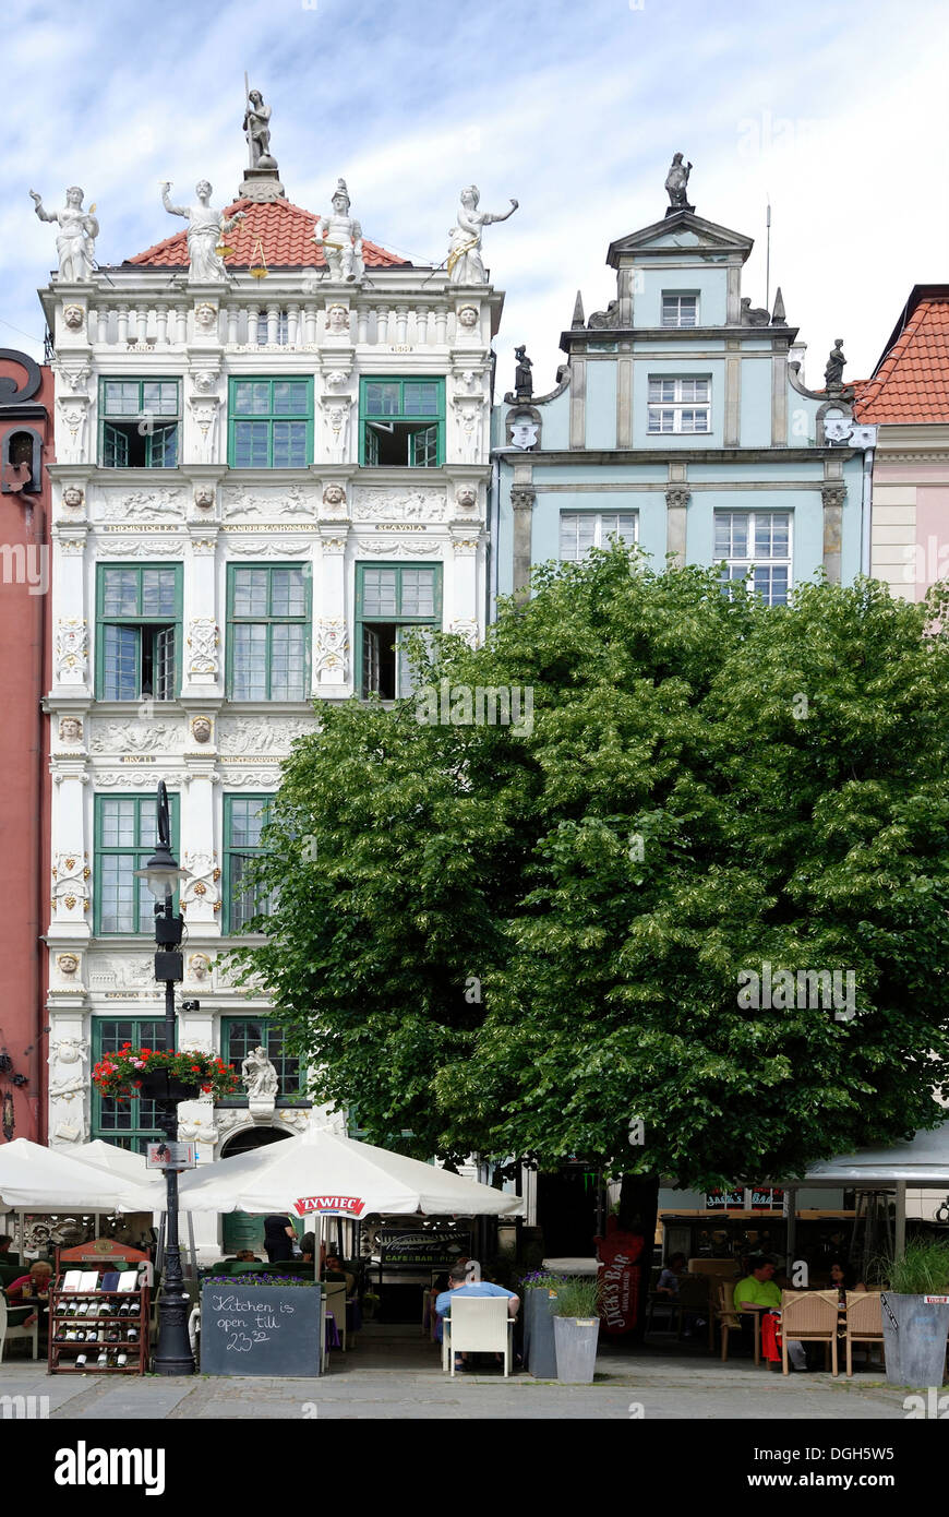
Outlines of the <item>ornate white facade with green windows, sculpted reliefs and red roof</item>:
M 53 1145 L 139 1145 L 150 1127 L 139 1103 L 103 1106 L 89 1071 L 126 1036 L 156 1036 L 164 1015 L 150 903 L 132 880 L 155 842 L 158 781 L 188 871 L 179 1042 L 229 1057 L 258 1041 L 268 1007 L 215 959 L 314 699 L 403 693 L 403 628 L 484 630 L 502 296 L 391 255 L 346 278 L 279 182 L 238 205 L 244 241 L 227 237 L 238 256 L 214 282 L 189 278 L 171 240 L 41 291 L 56 350 Z M 299 267 L 277 267 L 288 225 L 297 246 L 308 237 Z M 265 278 L 249 272 L 258 237 Z M 268 1053 L 287 1076 L 276 1042 Z M 308 1120 L 280 1100 L 208 1100 L 182 1106 L 179 1133 L 209 1162 L 255 1126 Z

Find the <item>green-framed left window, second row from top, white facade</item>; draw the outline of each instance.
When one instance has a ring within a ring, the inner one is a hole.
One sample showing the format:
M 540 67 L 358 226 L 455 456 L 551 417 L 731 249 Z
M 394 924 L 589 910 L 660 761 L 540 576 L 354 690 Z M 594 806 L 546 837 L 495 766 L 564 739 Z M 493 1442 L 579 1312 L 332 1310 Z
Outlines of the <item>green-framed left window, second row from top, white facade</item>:
M 180 627 L 180 564 L 97 564 L 96 699 L 174 701 Z

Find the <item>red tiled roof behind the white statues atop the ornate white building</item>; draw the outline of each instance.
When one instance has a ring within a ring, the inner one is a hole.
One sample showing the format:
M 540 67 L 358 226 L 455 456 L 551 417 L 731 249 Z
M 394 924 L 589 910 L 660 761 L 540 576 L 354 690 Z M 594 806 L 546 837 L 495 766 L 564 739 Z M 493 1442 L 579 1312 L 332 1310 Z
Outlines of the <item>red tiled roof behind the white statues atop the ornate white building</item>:
M 226 244 L 233 252 L 224 255 L 227 269 L 249 269 L 253 250 L 261 241 L 268 269 L 324 269 L 326 258 L 312 240 L 317 215 L 314 211 L 303 211 L 290 200 L 235 200 L 224 211 L 233 215 L 244 211 L 246 220 L 226 232 Z M 405 258 L 387 253 L 385 247 L 362 240 L 362 258 L 367 269 L 411 269 Z M 126 258 L 126 267 L 136 264 L 139 269 L 186 269 L 188 267 L 188 234 L 176 232 L 165 237 L 155 247 L 146 247 L 144 253 Z

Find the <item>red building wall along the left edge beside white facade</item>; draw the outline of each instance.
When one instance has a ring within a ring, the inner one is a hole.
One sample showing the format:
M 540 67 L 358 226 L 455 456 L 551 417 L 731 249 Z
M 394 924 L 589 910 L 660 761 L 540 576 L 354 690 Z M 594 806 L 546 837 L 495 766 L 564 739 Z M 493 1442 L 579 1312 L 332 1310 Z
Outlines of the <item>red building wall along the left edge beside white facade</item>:
M 53 376 L 0 349 L 0 1142 L 45 1141 Z

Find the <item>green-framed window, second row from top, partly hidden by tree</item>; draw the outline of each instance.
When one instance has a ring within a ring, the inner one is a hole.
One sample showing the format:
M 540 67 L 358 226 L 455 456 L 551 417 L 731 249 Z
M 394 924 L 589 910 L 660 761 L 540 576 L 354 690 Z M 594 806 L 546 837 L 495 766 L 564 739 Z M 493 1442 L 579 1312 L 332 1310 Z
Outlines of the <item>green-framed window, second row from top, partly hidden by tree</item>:
M 412 692 L 403 636 L 441 627 L 441 564 L 356 564 L 359 695 L 399 699 Z

